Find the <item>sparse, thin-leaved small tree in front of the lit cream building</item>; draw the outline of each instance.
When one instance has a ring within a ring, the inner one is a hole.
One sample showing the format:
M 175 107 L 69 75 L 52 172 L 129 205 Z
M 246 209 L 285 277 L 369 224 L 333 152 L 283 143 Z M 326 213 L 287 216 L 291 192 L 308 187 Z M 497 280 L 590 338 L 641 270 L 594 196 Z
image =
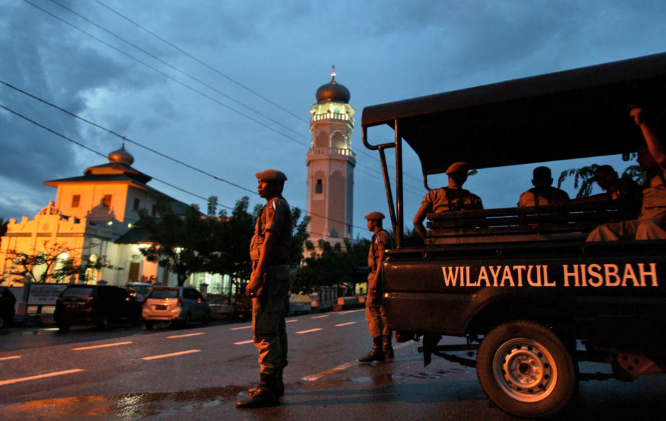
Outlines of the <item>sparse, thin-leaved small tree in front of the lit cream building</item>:
M 92 244 L 86 248 L 92 248 Z M 38 254 L 26 254 L 22 251 L 8 250 L 6 258 L 13 261 L 15 265 L 9 271 L 15 276 L 22 276 L 34 279 L 37 282 L 47 282 L 49 279 L 56 282 L 67 282 L 69 276 L 78 275 L 79 281 L 85 281 L 85 274 L 88 269 L 100 270 L 103 268 L 120 270 L 108 262 L 106 256 L 99 256 L 97 260 L 91 261 L 89 254 L 83 254 L 81 261 L 76 262 L 74 258 L 69 258 L 72 251 L 81 250 L 72 247 L 66 247 L 59 242 L 51 243 L 51 240 L 44 241 L 44 251 Z M 78 254 L 78 253 L 74 253 Z M 67 255 L 67 258 L 63 256 Z

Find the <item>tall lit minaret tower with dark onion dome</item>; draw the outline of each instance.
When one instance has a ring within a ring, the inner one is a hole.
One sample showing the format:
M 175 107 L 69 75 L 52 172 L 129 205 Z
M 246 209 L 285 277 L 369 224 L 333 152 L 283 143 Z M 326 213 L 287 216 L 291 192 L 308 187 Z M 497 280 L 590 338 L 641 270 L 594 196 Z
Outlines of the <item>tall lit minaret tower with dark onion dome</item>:
M 317 104 L 310 108 L 312 141 L 308 165 L 308 215 L 310 240 L 335 244 L 351 238 L 353 207 L 353 167 L 356 154 L 351 151 L 353 113 L 349 90 L 335 81 L 317 89 Z

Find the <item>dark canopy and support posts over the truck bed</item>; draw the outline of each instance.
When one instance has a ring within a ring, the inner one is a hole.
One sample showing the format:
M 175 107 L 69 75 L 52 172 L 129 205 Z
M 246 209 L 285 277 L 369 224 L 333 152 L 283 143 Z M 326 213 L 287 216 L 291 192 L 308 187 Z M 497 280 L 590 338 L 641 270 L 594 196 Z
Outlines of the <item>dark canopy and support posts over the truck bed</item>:
M 456 161 L 489 168 L 635 152 L 642 137 L 628 117 L 631 104 L 666 109 L 666 53 L 365 107 L 363 144 L 380 152 L 397 247 L 402 140 L 419 156 L 428 188 L 428 175 Z M 394 129 L 394 142 L 371 145 L 368 128 L 383 124 Z M 389 148 L 396 154 L 395 207 Z

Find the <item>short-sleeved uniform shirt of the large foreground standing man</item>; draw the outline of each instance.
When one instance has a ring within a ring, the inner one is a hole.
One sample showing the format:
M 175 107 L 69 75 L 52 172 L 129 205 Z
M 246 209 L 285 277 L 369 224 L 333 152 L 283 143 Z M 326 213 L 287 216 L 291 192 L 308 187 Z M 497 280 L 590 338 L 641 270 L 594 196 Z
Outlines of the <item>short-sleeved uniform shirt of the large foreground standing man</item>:
M 283 265 L 287 261 L 289 243 L 292 237 L 292 212 L 284 197 L 271 199 L 259 214 L 254 226 L 254 236 L 250 242 L 250 258 L 258 261 L 266 231 L 272 231 L 275 238 L 273 256 L 269 265 Z

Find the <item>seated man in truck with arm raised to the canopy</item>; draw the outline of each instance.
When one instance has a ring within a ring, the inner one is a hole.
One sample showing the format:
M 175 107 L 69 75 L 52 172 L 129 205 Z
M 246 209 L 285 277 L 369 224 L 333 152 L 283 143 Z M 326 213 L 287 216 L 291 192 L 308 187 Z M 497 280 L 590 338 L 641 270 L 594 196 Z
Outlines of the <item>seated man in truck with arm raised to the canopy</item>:
M 645 139 L 645 145 L 638 149 L 638 164 L 647 172 L 640 215 L 636 220 L 597 226 L 588 241 L 666 238 L 666 148 L 645 114 L 641 108 L 631 110 Z

